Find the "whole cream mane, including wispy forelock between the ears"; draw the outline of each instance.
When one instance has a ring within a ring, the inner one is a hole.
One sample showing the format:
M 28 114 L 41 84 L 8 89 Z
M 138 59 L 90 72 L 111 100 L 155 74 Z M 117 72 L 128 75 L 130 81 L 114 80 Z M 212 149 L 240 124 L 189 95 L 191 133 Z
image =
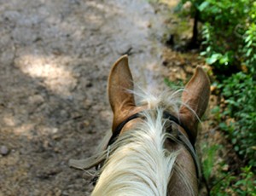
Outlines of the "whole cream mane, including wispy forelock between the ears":
M 141 98 L 141 105 L 148 105 L 148 110 L 141 112 L 143 122 L 119 135 L 105 151 L 107 159 L 92 195 L 166 195 L 174 170 L 191 189 L 186 175 L 175 164 L 179 152 L 164 147 L 166 138 L 172 135 L 166 133 L 162 114 L 167 110 L 178 116 L 180 92 L 165 91 L 159 96 L 143 90 L 131 92 Z

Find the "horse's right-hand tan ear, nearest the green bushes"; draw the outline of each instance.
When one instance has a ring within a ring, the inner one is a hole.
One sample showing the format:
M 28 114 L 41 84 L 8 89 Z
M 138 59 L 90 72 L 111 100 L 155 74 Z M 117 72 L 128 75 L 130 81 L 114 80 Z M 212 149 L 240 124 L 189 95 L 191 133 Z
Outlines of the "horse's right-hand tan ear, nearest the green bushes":
M 195 143 L 197 125 L 207 109 L 210 97 L 210 80 L 200 66 L 196 67 L 193 77 L 185 86 L 182 95 L 183 106 L 180 107 L 180 120 L 191 131 L 192 143 Z

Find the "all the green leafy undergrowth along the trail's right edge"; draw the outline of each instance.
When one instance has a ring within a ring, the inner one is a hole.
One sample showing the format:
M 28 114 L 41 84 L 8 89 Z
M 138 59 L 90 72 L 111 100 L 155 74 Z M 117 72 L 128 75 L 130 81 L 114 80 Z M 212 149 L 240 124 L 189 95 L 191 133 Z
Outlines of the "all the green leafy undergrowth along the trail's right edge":
M 191 17 L 199 13 L 201 55 L 212 66 L 219 95 L 224 97 L 224 108 L 214 107 L 212 112 L 247 165 L 239 176 L 218 171 L 224 180 L 217 183 L 215 178 L 211 194 L 256 195 L 256 2 L 181 0 L 182 4 L 187 2 L 191 3 Z M 208 150 L 210 163 L 203 163 L 206 179 L 211 176 L 214 148 Z

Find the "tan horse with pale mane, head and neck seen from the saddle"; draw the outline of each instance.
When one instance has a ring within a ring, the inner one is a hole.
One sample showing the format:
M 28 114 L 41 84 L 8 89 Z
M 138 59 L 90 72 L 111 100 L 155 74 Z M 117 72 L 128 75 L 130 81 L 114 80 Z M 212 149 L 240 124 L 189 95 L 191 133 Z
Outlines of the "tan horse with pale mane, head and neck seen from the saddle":
M 124 55 L 108 77 L 111 134 L 94 156 L 69 164 L 81 170 L 96 166 L 93 196 L 198 195 L 201 167 L 195 141 L 209 96 L 209 78 L 201 66 L 184 89 L 137 92 Z

